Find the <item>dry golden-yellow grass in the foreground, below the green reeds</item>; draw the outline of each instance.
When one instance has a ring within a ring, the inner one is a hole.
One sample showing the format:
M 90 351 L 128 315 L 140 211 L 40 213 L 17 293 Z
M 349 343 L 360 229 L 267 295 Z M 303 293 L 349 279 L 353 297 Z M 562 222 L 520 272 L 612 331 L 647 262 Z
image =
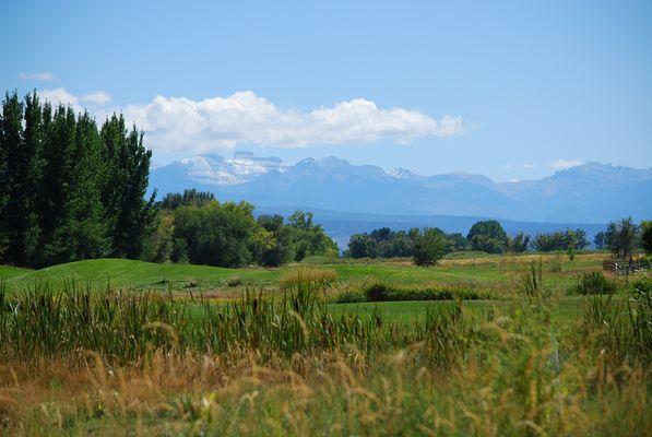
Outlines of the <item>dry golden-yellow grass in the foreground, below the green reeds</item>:
M 254 351 L 245 351 L 230 357 L 156 353 L 144 366 L 122 368 L 107 368 L 93 357 L 85 365 L 43 363 L 38 371 L 3 366 L 0 433 L 644 436 L 649 432 L 652 416 L 640 368 L 609 368 L 600 356 L 584 355 L 557 376 L 546 377 L 550 351 L 525 351 L 518 385 L 501 381 L 510 374 L 501 375 L 506 369 L 497 363 L 472 362 L 450 373 L 419 367 L 419 345 L 372 362 L 357 352 L 357 359 L 331 353 L 262 363 Z

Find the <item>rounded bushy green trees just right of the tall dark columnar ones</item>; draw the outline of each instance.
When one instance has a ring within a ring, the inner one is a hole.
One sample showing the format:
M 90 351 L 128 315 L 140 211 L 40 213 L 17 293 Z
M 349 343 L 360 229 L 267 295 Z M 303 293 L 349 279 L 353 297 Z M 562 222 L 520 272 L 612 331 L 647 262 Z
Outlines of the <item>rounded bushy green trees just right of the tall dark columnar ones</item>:
M 220 267 L 277 267 L 310 256 L 339 255 L 337 245 L 296 211 L 254 217 L 248 202 L 218 202 L 211 192 L 168 193 L 157 203 L 158 226 L 147 244 L 149 260 Z

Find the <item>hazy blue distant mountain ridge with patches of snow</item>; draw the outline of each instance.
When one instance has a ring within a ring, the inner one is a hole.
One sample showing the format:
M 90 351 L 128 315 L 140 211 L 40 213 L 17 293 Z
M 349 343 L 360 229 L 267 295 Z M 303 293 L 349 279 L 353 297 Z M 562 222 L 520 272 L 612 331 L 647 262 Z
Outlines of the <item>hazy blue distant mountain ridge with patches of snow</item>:
M 296 205 L 351 213 L 499 217 L 525 222 L 606 223 L 652 217 L 652 168 L 588 163 L 542 179 L 495 182 L 486 176 L 417 175 L 352 165 L 330 156 L 286 165 L 236 153 L 194 156 L 152 170 L 161 194 L 186 188 L 258 206 Z

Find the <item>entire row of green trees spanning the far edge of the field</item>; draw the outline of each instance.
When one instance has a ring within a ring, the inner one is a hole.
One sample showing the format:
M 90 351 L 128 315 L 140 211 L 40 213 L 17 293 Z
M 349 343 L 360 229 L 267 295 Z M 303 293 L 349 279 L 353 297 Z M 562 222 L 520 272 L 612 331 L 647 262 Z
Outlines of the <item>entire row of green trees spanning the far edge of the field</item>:
M 218 202 L 186 190 L 155 202 L 145 197 L 152 152 L 121 115 L 100 126 L 87 111 L 7 93 L 0 115 L 0 263 L 45 267 L 121 257 L 220 267 L 281 265 L 309 256 L 337 256 L 335 243 L 311 213 L 256 217 L 247 202 Z M 627 257 L 650 250 L 652 222 L 609 223 L 597 248 Z M 351 237 L 352 258 L 413 257 L 432 264 L 446 253 L 568 250 L 589 245 L 582 229 L 508 236 L 497 221 L 479 221 L 467 235 L 438 228 Z

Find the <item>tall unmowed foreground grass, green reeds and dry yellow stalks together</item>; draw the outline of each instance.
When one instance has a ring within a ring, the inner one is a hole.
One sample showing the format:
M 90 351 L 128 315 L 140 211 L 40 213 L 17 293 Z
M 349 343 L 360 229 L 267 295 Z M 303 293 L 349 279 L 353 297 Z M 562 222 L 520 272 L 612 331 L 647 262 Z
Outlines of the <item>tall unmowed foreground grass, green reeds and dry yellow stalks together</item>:
M 228 305 L 32 290 L 0 316 L 0 434 L 649 435 L 649 283 L 553 317 L 529 274 L 526 299 L 412 324 L 335 317 L 304 281 Z

